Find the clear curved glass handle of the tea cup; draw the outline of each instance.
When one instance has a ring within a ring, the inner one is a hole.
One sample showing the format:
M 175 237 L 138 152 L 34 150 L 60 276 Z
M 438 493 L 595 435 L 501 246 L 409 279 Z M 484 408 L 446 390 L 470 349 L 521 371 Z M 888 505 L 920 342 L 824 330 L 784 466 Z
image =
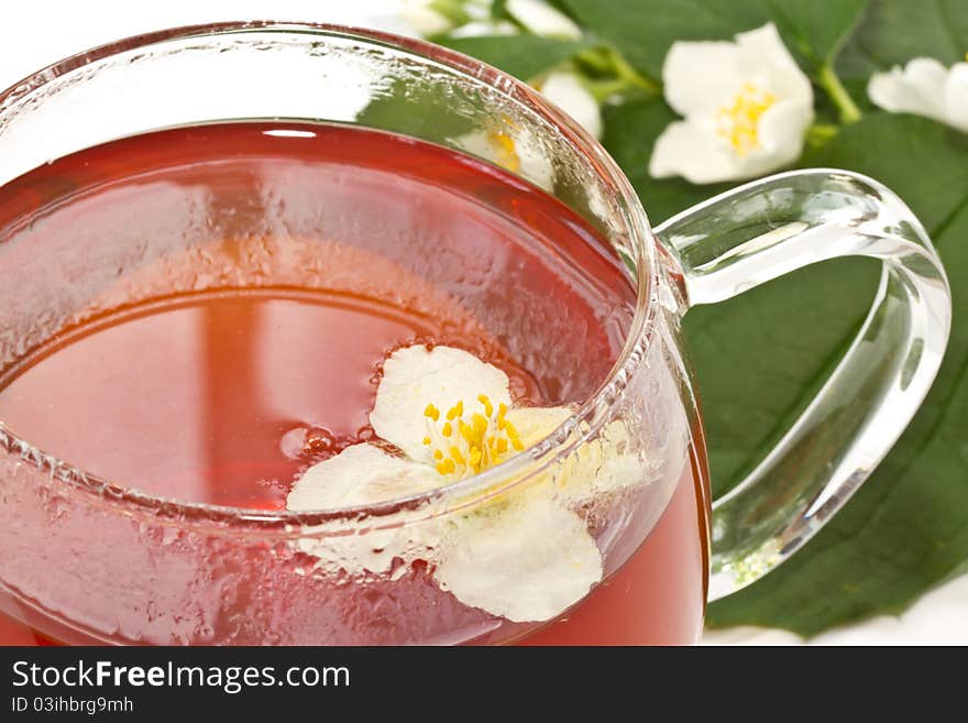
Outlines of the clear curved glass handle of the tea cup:
M 679 260 L 686 308 L 818 261 L 883 264 L 873 307 L 777 447 L 713 505 L 710 599 L 759 579 L 850 497 L 904 431 L 947 346 L 944 269 L 911 210 L 875 180 L 809 169 L 747 184 L 656 229 Z

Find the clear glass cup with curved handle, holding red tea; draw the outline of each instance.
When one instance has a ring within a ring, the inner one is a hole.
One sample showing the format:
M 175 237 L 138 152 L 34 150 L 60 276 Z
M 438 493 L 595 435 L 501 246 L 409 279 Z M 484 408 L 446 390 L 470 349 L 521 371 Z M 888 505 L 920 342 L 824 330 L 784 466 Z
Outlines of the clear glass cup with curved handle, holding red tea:
M 917 219 L 877 182 L 836 169 L 784 173 L 650 229 L 614 161 L 532 89 L 380 32 L 222 24 L 68 58 L 0 95 L 0 185 L 118 138 L 243 119 L 410 135 L 543 188 L 629 270 L 637 308 L 620 358 L 591 398 L 522 453 L 369 507 L 260 512 L 160 499 L 0 426 L 8 639 L 694 643 L 706 600 L 810 539 L 891 448 L 938 370 L 947 281 Z M 510 139 L 510 161 L 507 144 L 471 142 L 482 135 Z M 145 254 L 88 239 L 42 254 L 0 238 L 0 369 L 82 319 L 109 282 L 133 277 L 146 256 L 205 242 L 152 239 Z M 682 316 L 848 255 L 883 265 L 864 328 L 776 449 L 711 505 Z M 552 533 L 565 517 L 579 532 L 559 539 Z M 515 526 L 526 518 L 538 522 Z M 474 524 L 479 534 L 468 533 Z M 535 554 L 516 560 L 525 549 Z M 385 568 L 361 563 L 387 551 Z M 584 577 L 568 577 L 570 556 L 591 565 Z

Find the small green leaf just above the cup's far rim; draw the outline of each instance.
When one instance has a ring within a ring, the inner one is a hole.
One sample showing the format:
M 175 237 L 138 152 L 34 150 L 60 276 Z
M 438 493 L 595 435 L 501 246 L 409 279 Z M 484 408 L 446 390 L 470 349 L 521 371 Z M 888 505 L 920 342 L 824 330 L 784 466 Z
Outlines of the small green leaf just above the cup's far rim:
M 521 80 L 536 78 L 590 47 L 587 41 L 537 35 L 444 37 L 439 42 Z

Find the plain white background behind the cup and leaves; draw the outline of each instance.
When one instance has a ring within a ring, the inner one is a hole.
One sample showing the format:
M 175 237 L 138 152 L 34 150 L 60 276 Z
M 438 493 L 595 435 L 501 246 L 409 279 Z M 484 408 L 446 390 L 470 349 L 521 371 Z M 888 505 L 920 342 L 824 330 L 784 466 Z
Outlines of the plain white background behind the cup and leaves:
M 95 45 L 177 25 L 284 20 L 409 32 L 397 7 L 396 0 L 0 0 L 0 88 Z M 800 643 L 800 638 L 782 631 L 734 628 L 707 634 L 706 642 L 782 645 Z M 878 617 L 811 642 L 968 645 L 968 576 L 928 593 L 900 618 Z

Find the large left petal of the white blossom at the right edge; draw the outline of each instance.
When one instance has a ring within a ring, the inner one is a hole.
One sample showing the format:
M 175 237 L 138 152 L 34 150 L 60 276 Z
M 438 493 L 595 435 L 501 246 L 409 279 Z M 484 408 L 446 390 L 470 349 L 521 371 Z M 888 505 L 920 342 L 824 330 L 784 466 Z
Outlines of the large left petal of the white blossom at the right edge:
M 867 86 L 871 101 L 893 113 L 915 113 L 945 122 L 947 70 L 934 58 L 914 58 L 902 69 L 876 73 Z

